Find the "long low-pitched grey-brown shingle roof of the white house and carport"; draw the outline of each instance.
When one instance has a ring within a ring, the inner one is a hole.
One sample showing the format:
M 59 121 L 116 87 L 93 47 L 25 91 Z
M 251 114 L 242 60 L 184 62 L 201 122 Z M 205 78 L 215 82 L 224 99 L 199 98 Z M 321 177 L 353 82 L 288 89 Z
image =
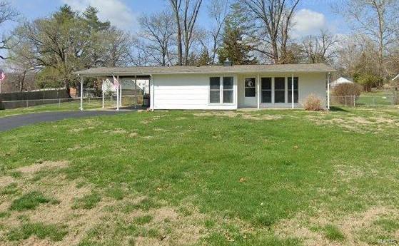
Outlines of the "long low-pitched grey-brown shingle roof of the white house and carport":
M 266 72 L 334 72 L 323 63 L 283 65 L 235 65 L 235 66 L 131 66 L 118 68 L 90 68 L 77 71 L 81 76 L 140 76 L 153 74 L 203 74 L 203 73 L 266 73 Z

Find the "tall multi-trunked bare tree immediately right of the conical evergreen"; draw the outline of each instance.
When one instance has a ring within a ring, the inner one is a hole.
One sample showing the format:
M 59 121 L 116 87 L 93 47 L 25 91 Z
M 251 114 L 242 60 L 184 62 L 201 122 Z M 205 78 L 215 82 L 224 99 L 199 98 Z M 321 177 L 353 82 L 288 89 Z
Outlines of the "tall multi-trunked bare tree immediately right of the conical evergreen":
M 242 0 L 241 6 L 254 21 L 257 51 L 274 63 L 286 63 L 293 14 L 300 0 Z

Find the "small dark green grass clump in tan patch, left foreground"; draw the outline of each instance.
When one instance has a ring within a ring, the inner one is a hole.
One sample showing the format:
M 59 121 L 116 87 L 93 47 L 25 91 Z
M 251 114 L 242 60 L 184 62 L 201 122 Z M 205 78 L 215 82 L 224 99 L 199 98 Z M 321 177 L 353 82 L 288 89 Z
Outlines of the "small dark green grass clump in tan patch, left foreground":
M 10 210 L 34 210 L 42 203 L 59 203 L 57 200 L 46 198 L 42 193 L 32 191 L 31 193 L 22 195 L 21 198 L 17 198 L 11 203 Z

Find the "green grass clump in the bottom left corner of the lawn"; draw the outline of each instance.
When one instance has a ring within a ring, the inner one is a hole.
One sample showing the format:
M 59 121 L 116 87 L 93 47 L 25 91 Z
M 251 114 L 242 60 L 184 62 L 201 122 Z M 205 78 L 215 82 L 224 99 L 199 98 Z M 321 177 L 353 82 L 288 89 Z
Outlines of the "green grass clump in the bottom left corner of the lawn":
M 68 232 L 65 226 L 45 225 L 43 223 L 25 223 L 21 227 L 14 228 L 7 235 L 8 240 L 18 241 L 35 235 L 40 239 L 48 237 L 52 241 L 61 241 Z

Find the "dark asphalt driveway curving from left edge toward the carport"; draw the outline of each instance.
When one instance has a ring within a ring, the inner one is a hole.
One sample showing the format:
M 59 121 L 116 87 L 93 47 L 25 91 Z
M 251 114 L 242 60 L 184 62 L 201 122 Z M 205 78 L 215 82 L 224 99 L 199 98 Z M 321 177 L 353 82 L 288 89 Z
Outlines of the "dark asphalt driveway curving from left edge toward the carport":
M 0 118 L 0 132 L 19 128 L 24 125 L 32 125 L 42 122 L 61 121 L 67 118 L 84 118 L 91 116 L 113 116 L 129 111 L 64 111 L 64 112 L 45 112 L 27 113 L 19 116 L 6 116 Z

